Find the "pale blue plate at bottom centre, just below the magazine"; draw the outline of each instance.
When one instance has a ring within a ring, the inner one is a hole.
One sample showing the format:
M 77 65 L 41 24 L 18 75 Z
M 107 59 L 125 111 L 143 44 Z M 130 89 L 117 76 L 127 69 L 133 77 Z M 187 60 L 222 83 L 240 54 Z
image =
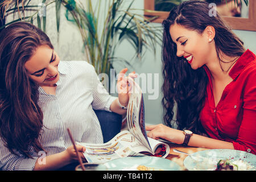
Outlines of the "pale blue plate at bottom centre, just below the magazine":
M 102 164 L 110 171 L 137 171 L 139 165 L 147 167 L 149 171 L 180 171 L 179 164 L 168 159 L 153 156 L 132 156 L 110 160 Z

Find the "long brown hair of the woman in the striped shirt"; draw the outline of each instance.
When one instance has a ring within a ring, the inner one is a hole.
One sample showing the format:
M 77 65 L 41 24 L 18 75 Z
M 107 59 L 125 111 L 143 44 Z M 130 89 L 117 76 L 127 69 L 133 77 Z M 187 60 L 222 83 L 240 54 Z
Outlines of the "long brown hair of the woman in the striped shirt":
M 43 113 L 38 105 L 38 84 L 28 77 L 24 64 L 48 36 L 30 23 L 11 24 L 0 34 L 0 136 L 13 154 L 31 158 L 42 151 L 39 142 Z

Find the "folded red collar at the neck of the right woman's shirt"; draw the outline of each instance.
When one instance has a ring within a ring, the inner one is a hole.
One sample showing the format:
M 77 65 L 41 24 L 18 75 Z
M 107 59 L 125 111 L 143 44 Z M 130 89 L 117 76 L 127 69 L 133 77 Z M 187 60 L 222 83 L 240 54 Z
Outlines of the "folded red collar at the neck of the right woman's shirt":
M 246 65 L 253 60 L 255 60 L 254 53 L 247 49 L 237 60 L 236 64 L 234 64 L 233 68 L 229 72 L 229 76 L 234 80 L 238 75 L 240 75 Z

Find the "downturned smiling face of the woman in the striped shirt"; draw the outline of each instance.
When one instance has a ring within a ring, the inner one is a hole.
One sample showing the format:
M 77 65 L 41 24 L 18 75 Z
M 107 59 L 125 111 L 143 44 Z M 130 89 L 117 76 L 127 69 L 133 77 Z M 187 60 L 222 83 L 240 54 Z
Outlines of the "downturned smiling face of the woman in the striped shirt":
M 39 46 L 25 63 L 28 76 L 40 86 L 52 86 L 59 80 L 59 56 L 48 46 Z

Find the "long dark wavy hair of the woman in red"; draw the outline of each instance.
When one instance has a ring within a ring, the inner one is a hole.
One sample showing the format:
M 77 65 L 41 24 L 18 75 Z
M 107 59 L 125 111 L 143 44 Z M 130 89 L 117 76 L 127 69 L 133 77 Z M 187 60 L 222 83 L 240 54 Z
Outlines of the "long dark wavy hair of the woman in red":
M 220 55 L 223 53 L 237 57 L 245 52 L 243 42 L 226 26 L 220 15 L 209 16 L 209 10 L 207 2 L 185 1 L 172 9 L 162 23 L 164 123 L 172 127 L 173 122 L 176 122 L 179 130 L 189 129 L 195 133 L 204 131 L 200 113 L 204 107 L 208 77 L 203 67 L 193 70 L 183 56 L 176 56 L 177 47 L 171 39 L 170 26 L 176 23 L 199 34 L 202 34 L 207 26 L 213 26 L 216 31 L 215 48 L 220 62 Z

